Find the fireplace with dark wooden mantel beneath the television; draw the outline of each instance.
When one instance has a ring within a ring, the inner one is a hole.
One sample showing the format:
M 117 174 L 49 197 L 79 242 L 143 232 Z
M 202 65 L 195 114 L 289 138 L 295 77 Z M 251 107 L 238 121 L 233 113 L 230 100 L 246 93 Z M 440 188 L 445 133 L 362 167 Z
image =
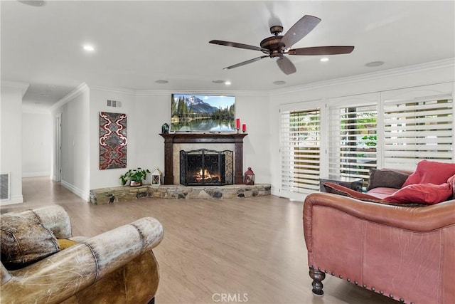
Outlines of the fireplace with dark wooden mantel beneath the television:
M 178 184 L 182 181 L 181 176 L 181 151 L 193 152 L 195 150 L 210 150 L 215 153 L 230 151 L 232 154 L 224 154 L 224 162 L 232 164 L 232 169 L 225 169 L 225 181 L 221 184 L 226 184 L 226 177 L 233 179 L 233 184 L 243 184 L 243 137 L 246 133 L 168 133 L 160 134 L 164 137 L 164 184 Z M 223 156 L 220 157 L 220 162 L 223 162 Z M 215 158 L 216 158 L 215 157 Z M 198 158 L 198 157 L 191 157 Z M 202 160 L 202 159 L 201 159 Z M 204 159 L 205 161 L 205 159 Z M 218 161 L 218 160 L 217 160 Z M 210 159 L 208 160 L 210 162 Z M 222 166 L 223 167 L 223 166 Z M 226 172 L 230 176 L 226 176 Z M 230 173 L 230 172 L 232 173 Z M 200 172 L 200 171 L 199 171 Z M 205 172 L 204 178 L 205 178 Z M 200 173 L 199 173 L 200 174 Z M 200 174 L 202 176 L 202 174 Z M 185 177 L 187 179 L 188 177 Z M 193 179 L 196 179 L 194 177 Z M 223 178 L 221 179 L 223 180 Z M 194 181 L 193 181 L 194 182 Z M 183 183 L 181 183 L 183 184 Z M 230 183 L 232 184 L 232 182 Z M 207 184 L 198 184 L 207 185 Z

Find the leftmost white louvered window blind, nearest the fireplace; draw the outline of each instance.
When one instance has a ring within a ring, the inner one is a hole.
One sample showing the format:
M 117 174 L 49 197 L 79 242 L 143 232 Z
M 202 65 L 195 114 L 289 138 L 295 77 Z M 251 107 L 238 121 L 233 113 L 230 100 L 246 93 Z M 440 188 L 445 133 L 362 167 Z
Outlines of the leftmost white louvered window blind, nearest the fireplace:
M 282 191 L 309 194 L 319 190 L 321 111 L 281 112 Z

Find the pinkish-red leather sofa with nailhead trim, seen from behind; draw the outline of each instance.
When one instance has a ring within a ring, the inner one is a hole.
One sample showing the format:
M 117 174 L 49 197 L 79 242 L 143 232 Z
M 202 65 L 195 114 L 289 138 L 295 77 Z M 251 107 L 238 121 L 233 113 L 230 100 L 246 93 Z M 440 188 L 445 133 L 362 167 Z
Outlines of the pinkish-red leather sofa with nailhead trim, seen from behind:
M 304 202 L 313 293 L 336 276 L 402 303 L 455 303 L 455 200 L 395 206 L 315 193 Z

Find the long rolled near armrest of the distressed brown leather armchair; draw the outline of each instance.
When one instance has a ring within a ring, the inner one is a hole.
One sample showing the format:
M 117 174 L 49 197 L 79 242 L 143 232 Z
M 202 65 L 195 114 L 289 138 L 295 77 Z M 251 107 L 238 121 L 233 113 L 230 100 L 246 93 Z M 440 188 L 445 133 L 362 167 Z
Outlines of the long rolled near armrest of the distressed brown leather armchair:
M 163 239 L 160 222 L 143 218 L 87 239 L 37 263 L 6 273 L 1 303 L 60 303 Z M 2 268 L 2 272 L 4 269 Z

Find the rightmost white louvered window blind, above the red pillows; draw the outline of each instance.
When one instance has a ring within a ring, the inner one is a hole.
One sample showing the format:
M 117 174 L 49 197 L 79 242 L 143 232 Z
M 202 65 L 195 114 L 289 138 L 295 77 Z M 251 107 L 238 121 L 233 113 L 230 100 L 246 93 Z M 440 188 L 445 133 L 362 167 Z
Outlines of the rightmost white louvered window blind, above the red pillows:
M 452 162 L 451 95 L 384 103 L 385 167 L 414 169 L 422 159 Z

